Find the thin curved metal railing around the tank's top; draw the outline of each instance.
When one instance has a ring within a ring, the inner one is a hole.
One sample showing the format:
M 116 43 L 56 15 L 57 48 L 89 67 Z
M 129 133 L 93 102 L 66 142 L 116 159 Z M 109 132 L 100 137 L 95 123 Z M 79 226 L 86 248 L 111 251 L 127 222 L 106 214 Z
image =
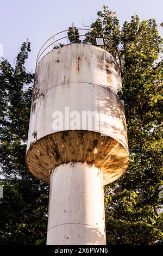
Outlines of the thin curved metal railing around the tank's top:
M 111 39 L 109 36 L 107 36 L 107 35 L 105 35 L 105 34 L 103 34 L 103 33 L 101 33 L 101 32 L 98 32 L 98 31 L 96 31 L 96 30 L 92 30 L 92 29 L 87 29 L 87 28 L 74 28 L 75 30 L 77 30 L 77 31 L 80 31 L 80 30 L 84 30 L 84 31 L 91 31 L 91 32 L 95 32 L 95 33 L 97 33 L 98 35 L 102 35 L 102 37 L 103 37 L 103 39 L 105 39 L 105 45 L 107 46 L 109 46 L 116 54 L 117 54 L 117 56 L 118 56 L 118 60 L 119 60 L 119 64 L 120 64 L 120 70 L 121 70 L 121 74 L 122 74 L 122 64 L 121 64 L 121 58 L 120 58 L 120 53 L 119 53 L 119 51 L 118 51 L 118 47 L 117 47 L 117 45 L 116 45 L 116 43 L 115 43 L 115 41 L 113 40 L 113 39 Z M 72 28 L 72 30 L 73 30 L 73 28 Z M 39 53 L 37 54 L 37 58 L 36 58 L 36 66 L 37 66 L 37 64 L 39 63 L 39 61 L 41 60 L 40 59 L 40 57 L 42 56 L 42 54 L 50 47 L 50 46 L 52 46 L 52 50 L 54 50 L 54 46 L 55 46 L 55 43 L 56 42 L 58 42 L 58 41 L 60 41 L 61 39 L 65 39 L 65 38 L 72 38 L 72 37 L 77 37 L 77 36 L 89 36 L 89 38 L 93 38 L 93 39 L 95 39 L 96 37 L 98 37 L 98 36 L 92 36 L 92 35 L 86 35 L 86 34 L 74 34 L 74 35 L 67 35 L 67 36 L 63 36 L 62 38 L 59 38 L 59 39 L 57 39 L 57 40 L 54 40 L 54 36 L 57 36 L 57 35 L 59 35 L 59 34 L 61 34 L 61 33 L 64 33 L 64 32 L 68 32 L 68 31 L 70 31 L 70 29 L 66 29 L 65 31 L 61 31 L 61 32 L 59 32 L 59 33 L 57 33 L 57 34 L 55 34 L 55 35 L 52 35 L 51 36 L 51 38 L 49 38 L 43 45 L 42 45 L 42 47 L 40 48 L 40 51 L 39 51 Z M 47 45 L 47 43 L 50 41 L 50 40 L 53 40 L 48 46 L 46 46 Z M 87 39 L 88 40 L 88 39 Z M 113 48 L 110 44 L 109 44 L 109 42 L 108 41 L 112 41 L 113 43 L 114 43 L 114 45 L 115 45 L 115 48 Z M 89 42 L 89 41 L 88 41 Z M 71 42 L 70 42 L 70 44 L 71 44 Z M 117 60 L 116 59 L 116 60 Z

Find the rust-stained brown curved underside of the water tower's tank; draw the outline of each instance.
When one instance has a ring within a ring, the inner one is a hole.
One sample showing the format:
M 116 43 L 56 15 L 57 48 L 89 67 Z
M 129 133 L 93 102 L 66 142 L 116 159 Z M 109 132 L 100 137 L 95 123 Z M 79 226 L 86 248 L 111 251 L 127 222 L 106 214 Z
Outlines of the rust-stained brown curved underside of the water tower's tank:
M 62 163 L 86 162 L 103 172 L 104 185 L 124 173 L 128 167 L 128 151 L 109 136 L 92 131 L 62 131 L 36 141 L 28 150 L 27 166 L 33 175 L 49 182 L 49 170 Z

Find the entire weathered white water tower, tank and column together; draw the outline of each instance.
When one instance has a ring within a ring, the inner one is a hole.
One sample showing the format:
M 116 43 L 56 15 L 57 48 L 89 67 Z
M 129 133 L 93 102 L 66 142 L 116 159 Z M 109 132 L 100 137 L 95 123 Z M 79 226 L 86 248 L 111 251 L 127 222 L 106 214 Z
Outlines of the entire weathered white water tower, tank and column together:
M 91 44 L 37 62 L 26 162 L 50 184 L 47 245 L 105 245 L 103 187 L 129 162 L 121 86 L 115 58 Z

